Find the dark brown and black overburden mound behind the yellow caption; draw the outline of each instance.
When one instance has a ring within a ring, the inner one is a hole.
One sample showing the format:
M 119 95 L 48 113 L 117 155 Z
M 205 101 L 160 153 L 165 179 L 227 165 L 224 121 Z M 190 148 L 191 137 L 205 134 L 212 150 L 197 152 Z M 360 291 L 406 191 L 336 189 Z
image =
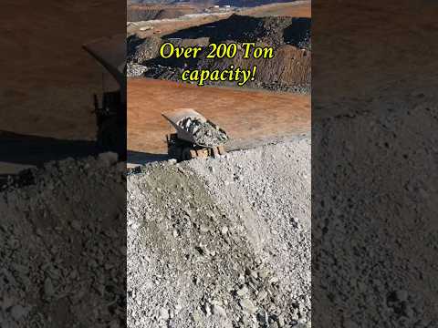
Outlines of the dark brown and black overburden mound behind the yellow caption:
M 290 17 L 252 17 L 231 15 L 214 23 L 194 26 L 167 36 L 137 35 L 128 38 L 129 76 L 152 77 L 181 81 L 184 69 L 224 70 L 231 65 L 251 69 L 257 66 L 255 81 L 245 87 L 271 90 L 308 92 L 311 77 L 311 19 Z M 160 47 L 166 42 L 174 46 L 202 46 L 196 58 L 162 58 Z M 239 50 L 234 58 L 206 58 L 211 43 L 236 43 Z M 270 59 L 250 56 L 244 58 L 243 43 L 272 46 Z M 214 84 L 235 86 L 233 82 Z

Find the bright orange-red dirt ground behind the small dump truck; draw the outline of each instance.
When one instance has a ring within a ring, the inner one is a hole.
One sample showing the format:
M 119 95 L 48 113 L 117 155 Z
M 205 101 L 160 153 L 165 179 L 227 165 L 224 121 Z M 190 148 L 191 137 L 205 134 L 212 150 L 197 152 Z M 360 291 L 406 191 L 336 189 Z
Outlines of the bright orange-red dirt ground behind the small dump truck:
M 128 149 L 165 153 L 172 128 L 161 113 L 176 108 L 193 108 L 214 121 L 233 138 L 234 148 L 310 129 L 309 96 L 130 79 Z

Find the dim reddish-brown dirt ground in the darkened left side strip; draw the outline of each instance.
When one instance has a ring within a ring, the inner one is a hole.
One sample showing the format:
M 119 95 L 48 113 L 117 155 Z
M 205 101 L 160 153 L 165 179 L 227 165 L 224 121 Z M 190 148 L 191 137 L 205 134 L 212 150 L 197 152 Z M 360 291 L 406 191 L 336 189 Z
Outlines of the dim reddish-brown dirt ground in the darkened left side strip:
M 120 0 L 4 0 L 0 176 L 89 148 L 102 69 L 82 45 L 126 29 Z M 62 154 L 56 153 L 60 151 Z

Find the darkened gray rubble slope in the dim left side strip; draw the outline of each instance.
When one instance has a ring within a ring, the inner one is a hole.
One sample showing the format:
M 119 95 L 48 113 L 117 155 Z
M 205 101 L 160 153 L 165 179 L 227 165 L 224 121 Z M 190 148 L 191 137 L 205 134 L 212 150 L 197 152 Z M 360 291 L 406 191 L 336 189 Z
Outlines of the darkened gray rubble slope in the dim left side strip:
M 21 182 L 0 193 L 0 326 L 122 327 L 125 163 L 66 159 Z

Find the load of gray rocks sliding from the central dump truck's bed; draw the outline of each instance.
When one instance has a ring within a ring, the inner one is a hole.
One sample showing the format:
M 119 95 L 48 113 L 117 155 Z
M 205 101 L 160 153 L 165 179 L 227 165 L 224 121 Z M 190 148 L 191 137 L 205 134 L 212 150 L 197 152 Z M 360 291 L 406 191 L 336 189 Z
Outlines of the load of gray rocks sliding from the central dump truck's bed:
M 218 144 L 223 144 L 228 140 L 228 137 L 223 131 L 214 128 L 208 121 L 202 122 L 198 118 L 184 118 L 179 125 L 191 133 L 199 145 L 213 147 Z

